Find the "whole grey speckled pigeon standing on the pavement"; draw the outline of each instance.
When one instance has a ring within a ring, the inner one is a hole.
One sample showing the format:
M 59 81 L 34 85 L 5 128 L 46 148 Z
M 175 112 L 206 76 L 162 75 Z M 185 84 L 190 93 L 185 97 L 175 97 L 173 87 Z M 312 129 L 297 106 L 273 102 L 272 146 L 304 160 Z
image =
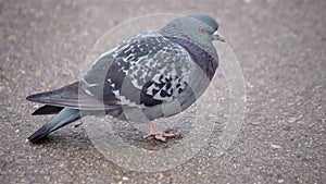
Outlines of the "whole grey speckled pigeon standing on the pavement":
M 149 133 L 165 142 L 176 134 L 156 130 L 153 120 L 175 115 L 204 93 L 218 66 L 212 41 L 225 39 L 209 15 L 177 17 L 161 29 L 146 30 L 102 53 L 77 82 L 26 97 L 43 103 L 33 115 L 55 114 L 27 140 L 36 143 L 84 115 L 126 120 L 135 110 Z M 83 114 L 83 115 L 82 115 Z

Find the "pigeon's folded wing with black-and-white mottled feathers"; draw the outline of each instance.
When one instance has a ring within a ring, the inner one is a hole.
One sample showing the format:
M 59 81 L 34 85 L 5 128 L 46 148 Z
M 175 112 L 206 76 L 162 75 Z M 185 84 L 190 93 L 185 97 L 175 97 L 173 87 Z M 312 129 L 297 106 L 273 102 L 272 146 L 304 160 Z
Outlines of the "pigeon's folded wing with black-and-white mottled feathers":
M 164 36 L 140 34 L 102 56 L 83 78 L 84 90 L 105 105 L 170 102 L 187 87 L 195 64 L 190 60 L 186 49 Z

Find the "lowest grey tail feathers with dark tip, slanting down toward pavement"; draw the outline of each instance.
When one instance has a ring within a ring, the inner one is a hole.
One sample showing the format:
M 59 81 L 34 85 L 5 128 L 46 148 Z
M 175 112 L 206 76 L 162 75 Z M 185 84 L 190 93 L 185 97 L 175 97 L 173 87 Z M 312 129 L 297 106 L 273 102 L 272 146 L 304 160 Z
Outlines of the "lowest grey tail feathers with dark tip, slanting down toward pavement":
M 80 119 L 79 110 L 64 108 L 60 111 L 52 120 L 50 120 L 47 124 L 36 131 L 32 136 L 28 137 L 28 140 L 35 143 L 40 138 L 47 136 L 53 131 L 59 130 L 62 126 L 65 126 L 74 121 Z

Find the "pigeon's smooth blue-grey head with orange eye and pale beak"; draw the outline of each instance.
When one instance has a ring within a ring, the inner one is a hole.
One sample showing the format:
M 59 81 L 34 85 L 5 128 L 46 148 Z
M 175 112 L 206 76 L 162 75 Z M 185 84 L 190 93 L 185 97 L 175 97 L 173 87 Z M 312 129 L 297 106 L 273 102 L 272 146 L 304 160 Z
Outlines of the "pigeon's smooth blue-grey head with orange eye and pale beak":
M 170 22 L 161 30 L 164 35 L 185 38 L 205 46 L 213 40 L 225 41 L 225 39 L 215 33 L 218 23 L 208 15 L 188 15 L 178 17 Z

